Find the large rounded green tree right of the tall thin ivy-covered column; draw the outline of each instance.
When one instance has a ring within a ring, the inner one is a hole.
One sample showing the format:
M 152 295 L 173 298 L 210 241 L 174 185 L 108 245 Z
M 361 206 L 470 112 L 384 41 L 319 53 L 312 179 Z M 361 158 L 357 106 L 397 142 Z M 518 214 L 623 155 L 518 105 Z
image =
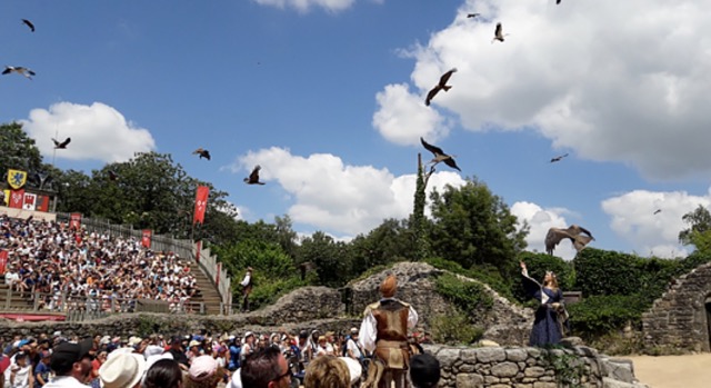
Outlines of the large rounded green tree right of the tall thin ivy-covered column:
M 430 241 L 437 257 L 464 268 L 491 265 L 503 276 L 514 270 L 517 255 L 525 248 L 528 223 L 517 228 L 517 217 L 503 200 L 475 178 L 460 188 L 447 186 L 431 195 L 433 223 Z

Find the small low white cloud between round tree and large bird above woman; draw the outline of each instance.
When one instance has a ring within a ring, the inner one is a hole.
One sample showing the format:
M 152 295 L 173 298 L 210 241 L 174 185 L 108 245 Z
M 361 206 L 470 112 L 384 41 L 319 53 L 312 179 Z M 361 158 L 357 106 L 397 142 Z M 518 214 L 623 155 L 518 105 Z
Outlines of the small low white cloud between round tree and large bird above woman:
M 511 213 L 519 219 L 519 227 L 523 225 L 523 221 L 528 222 L 531 227 L 525 238 L 528 250 L 531 251 L 545 252 L 545 235 L 548 233 L 548 229 L 569 227 L 565 217 L 563 217 L 563 215 L 570 213 L 567 209 L 543 209 L 535 203 L 520 201 L 513 203 Z M 592 241 L 591 245 L 594 245 L 594 241 Z M 558 247 L 555 247 L 553 255 L 564 260 L 571 260 L 575 257 L 575 248 L 573 248 L 570 240 L 562 240 Z

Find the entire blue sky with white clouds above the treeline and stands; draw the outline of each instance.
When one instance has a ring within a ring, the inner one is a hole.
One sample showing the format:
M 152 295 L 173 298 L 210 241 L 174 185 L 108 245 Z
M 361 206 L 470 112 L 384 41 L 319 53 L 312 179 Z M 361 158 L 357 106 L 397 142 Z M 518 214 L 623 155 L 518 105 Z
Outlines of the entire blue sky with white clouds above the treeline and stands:
M 431 187 L 477 176 L 530 249 L 578 223 L 598 248 L 677 256 L 681 216 L 711 203 L 709 17 L 691 0 L 2 2 L 0 64 L 37 76 L 0 77 L 0 122 L 48 161 L 71 137 L 62 169 L 169 152 L 246 220 L 344 239 L 411 211 L 422 136 L 462 169 Z M 267 185 L 248 187 L 257 163 Z

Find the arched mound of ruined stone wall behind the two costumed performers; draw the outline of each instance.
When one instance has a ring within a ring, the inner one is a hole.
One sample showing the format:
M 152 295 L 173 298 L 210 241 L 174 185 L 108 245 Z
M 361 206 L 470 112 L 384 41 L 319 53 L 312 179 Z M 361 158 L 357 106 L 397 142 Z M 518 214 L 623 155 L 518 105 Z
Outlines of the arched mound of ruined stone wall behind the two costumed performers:
M 429 327 L 432 318 L 448 314 L 450 304 L 435 291 L 438 276 L 444 273 L 424 262 L 400 262 L 393 268 L 349 285 L 352 290 L 352 312 L 360 316 L 365 307 L 380 299 L 382 280 L 393 273 L 398 277 L 395 297 L 411 304 L 420 316 L 423 327 Z M 462 276 L 464 281 L 477 281 Z M 484 338 L 500 345 L 525 345 L 533 326 L 533 310 L 509 302 L 483 285 L 493 299 L 490 310 L 478 311 L 472 320 L 484 328 Z

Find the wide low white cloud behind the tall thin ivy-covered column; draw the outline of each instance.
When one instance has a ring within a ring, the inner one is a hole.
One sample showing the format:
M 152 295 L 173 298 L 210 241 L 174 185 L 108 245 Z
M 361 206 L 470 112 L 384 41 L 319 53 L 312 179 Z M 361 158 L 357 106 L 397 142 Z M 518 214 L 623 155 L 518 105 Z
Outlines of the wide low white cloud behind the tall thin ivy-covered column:
M 388 169 L 349 166 L 330 153 L 293 156 L 272 147 L 248 152 L 231 167 L 234 172 L 261 165 L 260 178 L 277 181 L 292 198 L 288 213 L 294 222 L 333 235 L 368 232 L 385 218 L 405 218 L 412 212 L 415 176 L 393 176 Z M 437 172 L 428 190 L 461 186 L 453 172 Z

